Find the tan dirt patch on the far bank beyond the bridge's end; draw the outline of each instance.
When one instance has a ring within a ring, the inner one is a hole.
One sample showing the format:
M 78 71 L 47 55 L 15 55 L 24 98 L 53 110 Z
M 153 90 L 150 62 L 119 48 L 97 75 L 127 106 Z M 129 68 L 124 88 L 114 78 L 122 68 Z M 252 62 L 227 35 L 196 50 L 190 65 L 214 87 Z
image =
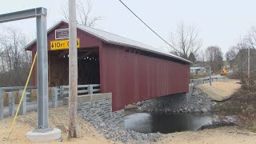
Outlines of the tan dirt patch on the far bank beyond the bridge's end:
M 234 94 L 241 87 L 238 82 L 239 80 L 227 79 L 225 82 L 212 82 L 212 86 L 206 83 L 197 87 L 214 100 L 222 101 L 229 98 L 231 94 Z

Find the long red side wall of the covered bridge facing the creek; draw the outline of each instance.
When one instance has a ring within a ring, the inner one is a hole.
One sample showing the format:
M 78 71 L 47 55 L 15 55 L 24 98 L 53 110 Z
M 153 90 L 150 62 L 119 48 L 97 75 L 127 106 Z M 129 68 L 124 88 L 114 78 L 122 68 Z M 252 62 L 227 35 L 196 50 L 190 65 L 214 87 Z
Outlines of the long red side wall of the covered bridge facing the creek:
M 101 90 L 113 93 L 113 110 L 167 94 L 189 91 L 188 64 L 126 52 L 103 43 L 100 49 Z

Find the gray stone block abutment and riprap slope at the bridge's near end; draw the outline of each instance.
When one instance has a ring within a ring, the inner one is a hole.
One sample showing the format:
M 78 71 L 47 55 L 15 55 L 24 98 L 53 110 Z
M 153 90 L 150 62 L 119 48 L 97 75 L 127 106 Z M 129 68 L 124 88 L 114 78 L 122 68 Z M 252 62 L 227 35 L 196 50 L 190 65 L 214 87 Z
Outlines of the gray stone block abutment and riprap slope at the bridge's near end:
M 67 104 L 67 100 L 64 103 Z M 126 130 L 124 110 L 112 112 L 112 94 L 78 96 L 78 115 L 90 122 L 105 138 L 121 142 L 155 142 L 162 134 Z

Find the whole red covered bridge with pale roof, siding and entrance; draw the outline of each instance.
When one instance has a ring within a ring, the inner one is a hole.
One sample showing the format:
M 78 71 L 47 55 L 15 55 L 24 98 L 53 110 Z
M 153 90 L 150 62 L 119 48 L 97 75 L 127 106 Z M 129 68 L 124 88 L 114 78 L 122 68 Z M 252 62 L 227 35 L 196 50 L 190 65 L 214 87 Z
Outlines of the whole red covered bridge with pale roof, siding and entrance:
M 190 62 L 141 42 L 78 25 L 78 84 L 100 83 L 113 110 L 150 98 L 189 91 Z M 48 30 L 49 86 L 68 85 L 68 23 Z M 26 46 L 34 58 L 36 41 Z M 33 83 L 36 84 L 36 69 Z

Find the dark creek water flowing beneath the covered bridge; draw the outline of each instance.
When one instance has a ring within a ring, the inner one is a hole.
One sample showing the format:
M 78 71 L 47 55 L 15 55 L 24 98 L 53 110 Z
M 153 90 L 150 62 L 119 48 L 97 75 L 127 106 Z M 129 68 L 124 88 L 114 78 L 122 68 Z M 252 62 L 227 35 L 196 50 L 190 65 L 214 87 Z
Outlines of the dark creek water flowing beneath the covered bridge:
M 210 125 L 212 119 L 210 113 L 154 114 L 126 110 L 125 127 L 127 130 L 145 134 L 157 132 L 167 134 L 198 130 L 201 126 Z

